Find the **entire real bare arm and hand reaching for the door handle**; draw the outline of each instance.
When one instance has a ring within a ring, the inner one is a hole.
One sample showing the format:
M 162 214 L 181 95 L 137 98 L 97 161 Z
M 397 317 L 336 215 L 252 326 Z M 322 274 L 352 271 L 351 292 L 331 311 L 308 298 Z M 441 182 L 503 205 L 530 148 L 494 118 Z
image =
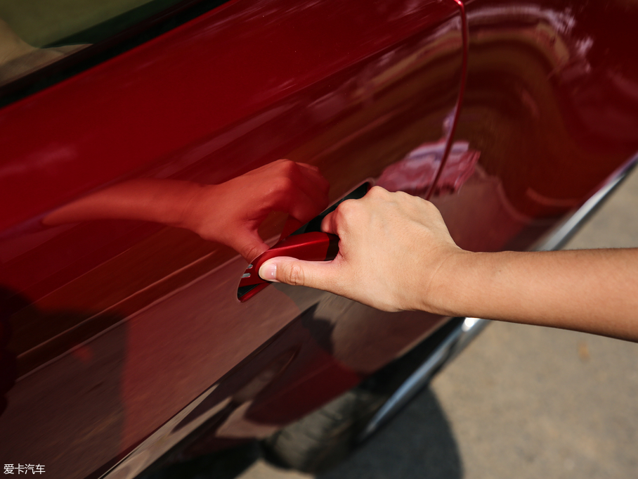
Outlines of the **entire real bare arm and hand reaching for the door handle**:
M 331 262 L 265 262 L 268 281 L 311 286 L 386 311 L 423 310 L 638 341 L 638 249 L 471 253 L 436 207 L 375 187 L 325 217 Z

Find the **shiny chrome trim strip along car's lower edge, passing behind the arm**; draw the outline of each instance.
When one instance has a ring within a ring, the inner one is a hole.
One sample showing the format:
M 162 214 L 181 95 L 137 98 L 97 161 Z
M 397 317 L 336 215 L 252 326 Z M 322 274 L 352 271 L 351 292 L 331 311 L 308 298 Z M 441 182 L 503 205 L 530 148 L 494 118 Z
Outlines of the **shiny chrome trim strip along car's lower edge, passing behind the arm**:
M 594 195 L 587 200 L 578 210 L 566 219 L 555 231 L 547 236 L 534 250 L 549 251 L 560 249 L 571 236 L 578 231 L 585 220 L 597 210 L 606 198 L 623 182 L 627 175 L 638 163 L 638 155 L 617 170 L 604 183 Z M 389 421 L 405 404 L 417 395 L 434 377 L 434 374 L 441 370 L 445 364 L 460 354 L 469 345 L 471 340 L 478 336 L 478 333 L 488 325 L 487 319 L 465 318 L 463 323 L 455 328 L 450 335 L 438 345 L 432 355 L 424 362 L 419 369 L 410 375 L 398 390 L 386 401 L 386 403 L 372 417 L 362 433 L 358 436 L 358 442 L 370 437 L 379 427 Z

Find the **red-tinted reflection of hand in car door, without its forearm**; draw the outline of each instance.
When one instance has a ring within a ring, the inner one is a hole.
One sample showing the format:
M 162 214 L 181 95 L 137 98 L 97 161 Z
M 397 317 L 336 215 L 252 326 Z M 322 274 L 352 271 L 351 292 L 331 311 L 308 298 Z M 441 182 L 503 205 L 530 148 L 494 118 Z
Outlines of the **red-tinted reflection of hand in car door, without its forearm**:
M 251 261 L 268 250 L 257 230 L 270 212 L 288 213 L 304 224 L 327 207 L 329 187 L 317 167 L 277 160 L 225 183 L 202 185 L 176 226 Z

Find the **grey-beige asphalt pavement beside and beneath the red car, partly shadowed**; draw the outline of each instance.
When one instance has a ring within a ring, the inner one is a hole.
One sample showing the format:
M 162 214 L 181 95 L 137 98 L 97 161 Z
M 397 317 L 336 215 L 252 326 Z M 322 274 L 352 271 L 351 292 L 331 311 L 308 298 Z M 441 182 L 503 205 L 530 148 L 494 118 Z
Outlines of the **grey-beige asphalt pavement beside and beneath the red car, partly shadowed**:
M 628 246 L 638 246 L 638 171 L 566 248 Z M 316 477 L 635 479 L 637 398 L 638 344 L 493 323 L 388 426 Z M 263 459 L 243 468 L 237 478 L 314 477 Z M 217 476 L 204 469 L 193 479 Z

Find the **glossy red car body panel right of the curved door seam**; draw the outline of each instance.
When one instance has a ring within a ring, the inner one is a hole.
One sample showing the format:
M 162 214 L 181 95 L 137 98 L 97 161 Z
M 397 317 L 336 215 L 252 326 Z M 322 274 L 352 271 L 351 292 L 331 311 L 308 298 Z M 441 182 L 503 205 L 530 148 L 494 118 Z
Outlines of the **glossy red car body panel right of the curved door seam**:
M 467 2 L 455 144 L 480 158 L 460 191 L 433 198 L 462 248 L 532 247 L 634 158 L 637 15 L 624 2 Z

